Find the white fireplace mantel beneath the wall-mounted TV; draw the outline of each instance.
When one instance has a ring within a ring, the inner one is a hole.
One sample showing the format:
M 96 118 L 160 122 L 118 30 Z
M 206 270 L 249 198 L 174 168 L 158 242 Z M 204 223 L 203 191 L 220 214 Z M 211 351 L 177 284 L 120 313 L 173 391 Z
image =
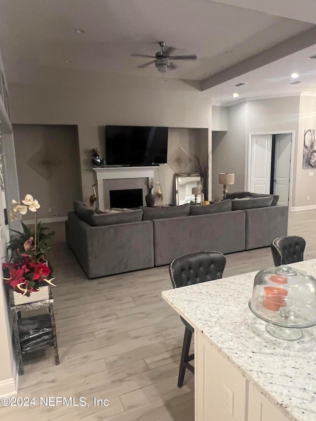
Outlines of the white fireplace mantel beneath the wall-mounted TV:
M 158 165 L 149 167 L 103 167 L 93 168 L 97 174 L 99 209 L 104 211 L 103 181 L 122 178 L 154 178 Z

